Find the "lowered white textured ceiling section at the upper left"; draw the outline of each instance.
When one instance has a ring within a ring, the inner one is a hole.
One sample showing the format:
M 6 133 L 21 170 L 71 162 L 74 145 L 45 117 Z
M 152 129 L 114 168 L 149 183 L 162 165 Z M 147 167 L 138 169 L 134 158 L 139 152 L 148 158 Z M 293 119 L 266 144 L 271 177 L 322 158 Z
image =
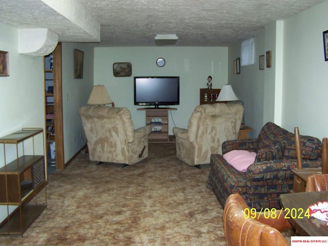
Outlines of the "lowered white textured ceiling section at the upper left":
M 1 22 L 17 28 L 48 28 L 58 34 L 59 42 L 99 42 L 98 20 L 75 2 L 0 0 Z

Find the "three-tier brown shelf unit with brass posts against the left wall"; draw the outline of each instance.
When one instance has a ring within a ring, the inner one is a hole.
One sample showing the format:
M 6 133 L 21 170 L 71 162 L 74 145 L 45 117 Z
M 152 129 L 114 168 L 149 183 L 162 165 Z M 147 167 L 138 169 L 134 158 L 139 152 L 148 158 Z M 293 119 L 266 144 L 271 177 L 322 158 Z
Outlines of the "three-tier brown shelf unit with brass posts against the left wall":
M 7 211 L 6 218 L 0 221 L 0 234 L 23 237 L 47 207 L 44 138 L 42 128 L 23 128 L 0 138 L 4 154 L 0 163 L 0 206 Z M 45 195 L 36 199 L 42 190 Z

